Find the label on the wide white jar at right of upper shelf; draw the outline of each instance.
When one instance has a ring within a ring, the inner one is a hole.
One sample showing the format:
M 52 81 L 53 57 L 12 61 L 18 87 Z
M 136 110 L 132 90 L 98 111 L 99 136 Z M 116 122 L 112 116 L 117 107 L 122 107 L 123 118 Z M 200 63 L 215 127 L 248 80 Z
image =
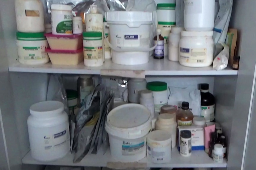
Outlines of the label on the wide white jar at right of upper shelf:
M 187 63 L 206 63 L 206 48 L 180 48 L 180 61 Z

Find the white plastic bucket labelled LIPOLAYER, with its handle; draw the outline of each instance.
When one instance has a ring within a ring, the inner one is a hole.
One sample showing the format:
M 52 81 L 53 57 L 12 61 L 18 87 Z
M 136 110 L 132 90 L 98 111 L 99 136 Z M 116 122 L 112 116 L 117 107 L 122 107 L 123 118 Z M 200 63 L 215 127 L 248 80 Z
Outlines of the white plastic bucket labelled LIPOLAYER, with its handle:
M 156 47 L 150 48 L 156 30 L 152 12 L 112 11 L 106 13 L 106 21 L 111 42 L 106 43 L 111 48 L 113 63 L 137 65 L 149 61 L 149 51 Z

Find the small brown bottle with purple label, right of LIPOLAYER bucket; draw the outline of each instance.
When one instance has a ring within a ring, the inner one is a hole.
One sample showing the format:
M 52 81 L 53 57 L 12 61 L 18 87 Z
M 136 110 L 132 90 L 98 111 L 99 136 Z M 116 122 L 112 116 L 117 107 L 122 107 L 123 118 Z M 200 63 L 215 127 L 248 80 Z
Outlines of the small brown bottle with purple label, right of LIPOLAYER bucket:
M 163 59 L 165 57 L 165 38 L 161 36 L 161 30 L 157 29 L 158 34 L 158 43 L 157 36 L 154 37 L 154 44 L 157 46 L 154 49 L 154 59 Z

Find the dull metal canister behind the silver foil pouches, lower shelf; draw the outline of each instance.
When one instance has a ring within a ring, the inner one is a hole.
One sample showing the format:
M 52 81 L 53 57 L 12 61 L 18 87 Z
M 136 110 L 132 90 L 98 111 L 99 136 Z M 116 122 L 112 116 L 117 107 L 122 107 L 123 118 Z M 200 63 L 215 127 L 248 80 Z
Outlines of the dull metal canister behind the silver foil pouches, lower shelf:
M 85 97 L 94 90 L 94 84 L 91 76 L 80 75 L 77 80 L 77 91 L 78 91 L 78 107 L 81 107 L 81 103 Z

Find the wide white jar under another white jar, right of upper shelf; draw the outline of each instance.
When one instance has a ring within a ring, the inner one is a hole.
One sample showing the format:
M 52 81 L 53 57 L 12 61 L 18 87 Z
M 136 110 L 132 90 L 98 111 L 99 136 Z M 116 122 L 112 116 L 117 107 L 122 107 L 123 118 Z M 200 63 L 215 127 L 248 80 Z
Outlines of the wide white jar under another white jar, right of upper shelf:
M 187 67 L 207 67 L 213 62 L 213 31 L 181 31 L 179 62 Z

